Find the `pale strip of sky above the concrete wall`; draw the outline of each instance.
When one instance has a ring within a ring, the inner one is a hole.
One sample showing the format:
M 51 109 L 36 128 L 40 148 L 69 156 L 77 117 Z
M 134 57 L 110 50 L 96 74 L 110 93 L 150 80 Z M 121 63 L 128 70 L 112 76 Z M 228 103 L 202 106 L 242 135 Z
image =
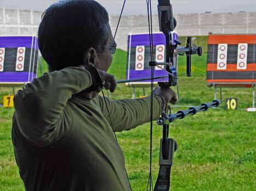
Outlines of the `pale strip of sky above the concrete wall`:
M 55 0 L 0 0 L 0 8 L 32 9 L 43 11 Z M 110 15 L 119 15 L 123 0 L 98 0 Z M 170 0 L 174 14 L 229 13 L 256 11 L 256 0 Z M 146 0 L 127 0 L 123 15 L 146 15 Z M 157 0 L 152 0 L 152 13 L 157 14 Z

